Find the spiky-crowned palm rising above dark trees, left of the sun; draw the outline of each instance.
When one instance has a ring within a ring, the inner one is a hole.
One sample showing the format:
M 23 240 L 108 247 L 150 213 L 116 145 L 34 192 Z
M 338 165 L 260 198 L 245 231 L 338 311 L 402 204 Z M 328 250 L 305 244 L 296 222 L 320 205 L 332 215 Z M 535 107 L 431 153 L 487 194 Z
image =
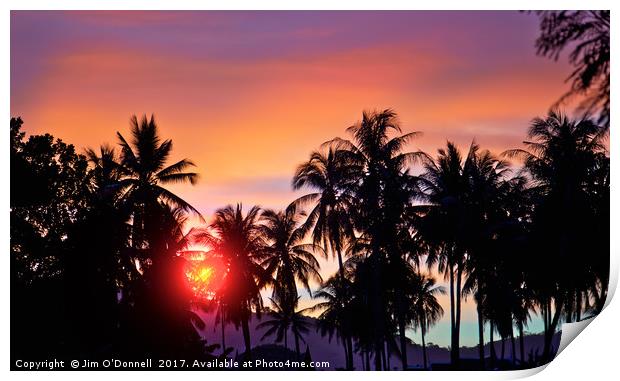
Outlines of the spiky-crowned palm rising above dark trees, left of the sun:
M 194 163 L 188 159 L 166 166 L 172 151 L 172 141 L 161 141 L 154 116 L 147 119 L 144 115 L 138 121 L 134 115 L 130 123 L 131 142 L 117 132 L 122 164 L 120 188 L 125 202 L 131 205 L 133 210 L 132 246 L 140 249 L 145 247 L 148 240 L 152 238 L 152 236 L 146 237 L 145 234 L 148 234 L 148 225 L 154 223 L 149 214 L 152 209 L 157 208 L 159 201 L 200 216 L 198 210 L 187 201 L 163 187 L 168 184 L 182 183 L 194 185 L 198 174 L 185 172 L 194 166 Z

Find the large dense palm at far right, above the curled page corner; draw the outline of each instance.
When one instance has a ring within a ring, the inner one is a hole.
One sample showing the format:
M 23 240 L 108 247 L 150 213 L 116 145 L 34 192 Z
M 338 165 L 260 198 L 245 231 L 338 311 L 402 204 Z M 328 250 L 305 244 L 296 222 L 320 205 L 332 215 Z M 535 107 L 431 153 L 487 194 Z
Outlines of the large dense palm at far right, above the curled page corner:
M 589 119 L 574 121 L 552 110 L 546 118 L 532 121 L 525 150 L 505 152 L 524 159 L 537 193 L 530 252 L 540 259 L 540 267 L 528 275 L 544 318 L 545 360 L 550 359 L 551 340 L 561 317 L 566 321 L 579 318 L 584 310 L 580 297 L 596 284 L 595 272 L 590 261 L 583 260 L 583 253 L 595 247 L 604 250 L 606 245 L 594 242 L 593 247 L 583 234 L 601 220 L 589 191 L 592 170 L 606 156 L 601 130 Z M 609 241 L 604 236 L 601 241 Z M 550 275 L 546 269 L 560 262 L 562 271 Z

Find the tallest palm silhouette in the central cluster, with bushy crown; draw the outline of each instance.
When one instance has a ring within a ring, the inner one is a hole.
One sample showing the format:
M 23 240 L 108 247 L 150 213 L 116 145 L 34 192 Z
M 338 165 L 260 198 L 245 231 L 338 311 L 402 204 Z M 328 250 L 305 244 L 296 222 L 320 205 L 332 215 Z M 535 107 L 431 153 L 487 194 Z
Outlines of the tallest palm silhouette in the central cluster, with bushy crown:
M 375 327 L 375 365 L 381 367 L 380 353 L 384 353 L 387 327 L 382 314 L 387 310 L 380 269 L 388 260 L 397 260 L 403 253 L 399 250 L 397 236 L 405 207 L 412 198 L 412 178 L 407 166 L 420 159 L 421 152 L 403 152 L 406 144 L 418 135 L 417 132 L 402 133 L 397 115 L 387 109 L 381 112 L 364 112 L 359 123 L 347 129 L 353 139 L 335 138 L 327 143 L 335 147 L 339 161 L 354 168 L 347 184 L 355 202 L 355 230 L 366 236 L 369 242 L 369 264 L 375 268 L 374 287 L 369 295 Z M 395 136 L 394 136 L 395 135 Z M 347 176 L 348 177 L 348 176 Z M 401 281 L 404 281 L 401 280 Z M 407 367 L 405 337 L 405 298 L 401 287 L 396 291 L 396 315 L 399 321 L 401 360 Z

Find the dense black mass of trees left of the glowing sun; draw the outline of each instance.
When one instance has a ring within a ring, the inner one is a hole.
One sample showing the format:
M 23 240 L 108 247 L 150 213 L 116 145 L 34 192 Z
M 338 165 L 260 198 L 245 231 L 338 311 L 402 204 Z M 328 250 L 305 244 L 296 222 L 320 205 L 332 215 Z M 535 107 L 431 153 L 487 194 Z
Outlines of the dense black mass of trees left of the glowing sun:
M 206 356 L 177 252 L 186 212 L 163 185 L 194 183 L 165 163 L 172 142 L 132 119 L 131 144 L 75 152 L 11 119 L 11 355 Z M 197 212 L 196 212 L 197 213 Z M 166 327 L 162 329 L 162 327 Z

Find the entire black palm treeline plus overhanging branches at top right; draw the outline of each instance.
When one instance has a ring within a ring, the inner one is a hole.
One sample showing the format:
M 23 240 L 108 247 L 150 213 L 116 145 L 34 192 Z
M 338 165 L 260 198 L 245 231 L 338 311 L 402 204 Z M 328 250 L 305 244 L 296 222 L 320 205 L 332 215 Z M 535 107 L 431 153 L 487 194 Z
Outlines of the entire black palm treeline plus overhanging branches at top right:
M 292 187 L 307 194 L 282 211 L 239 203 L 207 225 L 167 188 L 198 175 L 188 159 L 169 163 L 172 141 L 153 117 L 132 117 L 129 139 L 117 133 L 117 146 L 83 153 L 49 134 L 26 137 L 11 119 L 12 360 L 224 358 L 229 324 L 243 333 L 239 356 L 252 358 L 249 322 L 265 314 L 262 337 L 287 353 L 290 345 L 296 359 L 309 361 L 304 336 L 316 329 L 342 346 L 346 369 L 354 356 L 363 369 L 390 369 L 391 354 L 407 368 L 406 331 L 419 330 L 425 349 L 447 313 L 456 369 L 471 298 L 480 368 L 497 368 L 495 346 L 488 358 L 484 347 L 498 339 L 518 353 L 512 367 L 550 361 L 560 324 L 597 314 L 607 296 L 609 12 L 540 17 L 539 54 L 557 58 L 583 42 L 570 56 L 569 94 L 585 96 L 585 116 L 551 111 L 531 122 L 521 148 L 499 154 L 475 142 L 425 153 L 407 151 L 418 133 L 404 132 L 393 110 L 364 112 L 297 167 Z M 186 232 L 192 216 L 203 224 Z M 225 272 L 209 298 L 187 277 L 193 244 L 209 247 Z M 334 258 L 336 273 L 323 279 L 317 256 Z M 298 286 L 314 307 L 299 308 Z M 216 314 L 221 343 L 197 333 L 201 310 Z M 523 344 L 533 315 L 544 323 L 537 356 Z M 430 365 L 425 350 L 422 363 Z

